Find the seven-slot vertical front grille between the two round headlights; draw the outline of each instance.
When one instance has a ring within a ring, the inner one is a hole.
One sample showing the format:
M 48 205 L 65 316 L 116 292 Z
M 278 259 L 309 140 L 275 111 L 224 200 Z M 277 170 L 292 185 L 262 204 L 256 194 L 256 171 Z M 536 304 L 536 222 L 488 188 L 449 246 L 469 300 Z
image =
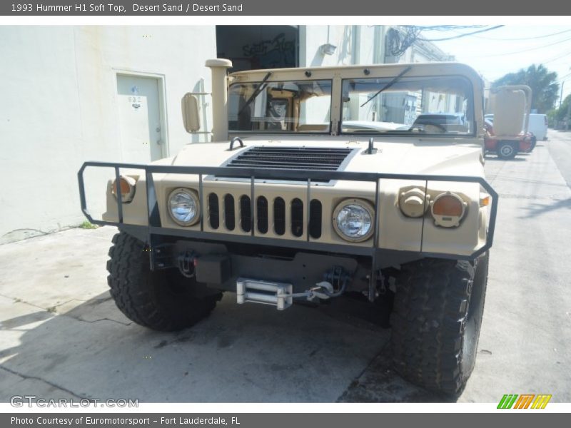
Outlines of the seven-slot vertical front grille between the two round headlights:
M 221 200 L 221 203 L 219 203 Z M 222 207 L 220 206 L 222 205 Z M 222 209 L 221 209 L 222 208 Z M 252 203 L 248 195 L 234 198 L 227 193 L 220 198 L 216 193 L 208 194 L 207 221 L 212 230 L 221 228 L 221 220 L 227 230 L 242 233 L 252 233 L 263 236 L 268 233 L 286 238 L 301 238 L 309 233 L 313 239 L 321 237 L 323 223 L 322 205 L 319 200 L 310 200 L 309 224 L 305 202 L 300 198 L 284 200 L 277 197 L 268 200 L 266 196 L 258 196 L 253 204 L 254 218 L 252 219 Z M 305 229 L 307 227 L 307 230 Z

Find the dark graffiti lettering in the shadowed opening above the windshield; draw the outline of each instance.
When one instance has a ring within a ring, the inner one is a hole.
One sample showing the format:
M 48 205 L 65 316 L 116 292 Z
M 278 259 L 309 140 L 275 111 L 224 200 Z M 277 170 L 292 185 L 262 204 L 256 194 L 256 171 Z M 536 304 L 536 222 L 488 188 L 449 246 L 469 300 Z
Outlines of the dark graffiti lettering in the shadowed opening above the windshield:
M 242 46 L 244 56 L 252 58 L 261 68 L 279 68 L 295 66 L 295 39 L 285 40 L 285 34 L 273 39 Z

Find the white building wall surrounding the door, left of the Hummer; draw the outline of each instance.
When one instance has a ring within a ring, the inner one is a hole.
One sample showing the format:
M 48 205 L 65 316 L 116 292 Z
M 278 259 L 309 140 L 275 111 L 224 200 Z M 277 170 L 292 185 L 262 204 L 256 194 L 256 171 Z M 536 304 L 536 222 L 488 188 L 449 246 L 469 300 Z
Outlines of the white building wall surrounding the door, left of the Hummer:
M 81 163 L 129 161 L 118 133 L 118 71 L 163 78 L 169 154 L 198 141 L 183 129 L 181 97 L 210 91 L 204 63 L 216 58 L 216 34 L 214 26 L 3 26 L 0 58 L 0 243 L 6 243 L 84 220 Z M 104 190 L 88 196 L 101 211 Z

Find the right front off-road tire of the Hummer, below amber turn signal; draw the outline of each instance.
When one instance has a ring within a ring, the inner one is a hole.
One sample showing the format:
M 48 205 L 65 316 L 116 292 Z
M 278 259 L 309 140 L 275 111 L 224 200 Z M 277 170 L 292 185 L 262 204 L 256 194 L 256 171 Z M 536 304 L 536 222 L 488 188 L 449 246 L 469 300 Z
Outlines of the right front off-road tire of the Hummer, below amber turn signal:
M 390 322 L 393 363 L 405 379 L 455 397 L 463 391 L 475 365 L 488 259 L 403 265 Z

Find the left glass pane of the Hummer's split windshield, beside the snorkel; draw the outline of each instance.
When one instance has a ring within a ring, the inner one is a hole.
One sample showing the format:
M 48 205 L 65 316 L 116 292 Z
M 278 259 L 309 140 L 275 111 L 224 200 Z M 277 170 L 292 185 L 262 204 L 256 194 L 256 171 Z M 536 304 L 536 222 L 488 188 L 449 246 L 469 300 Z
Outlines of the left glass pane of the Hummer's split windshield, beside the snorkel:
M 331 81 L 235 83 L 228 93 L 228 129 L 328 133 Z

